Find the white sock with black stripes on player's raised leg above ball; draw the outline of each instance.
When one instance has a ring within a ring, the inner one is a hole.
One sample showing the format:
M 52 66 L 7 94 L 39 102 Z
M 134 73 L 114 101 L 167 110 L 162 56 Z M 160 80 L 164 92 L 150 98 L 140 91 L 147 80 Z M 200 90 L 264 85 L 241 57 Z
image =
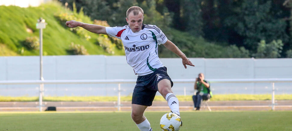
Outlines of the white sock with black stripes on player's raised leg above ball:
M 179 99 L 173 93 L 166 94 L 165 100 L 168 103 L 170 110 L 179 115 Z

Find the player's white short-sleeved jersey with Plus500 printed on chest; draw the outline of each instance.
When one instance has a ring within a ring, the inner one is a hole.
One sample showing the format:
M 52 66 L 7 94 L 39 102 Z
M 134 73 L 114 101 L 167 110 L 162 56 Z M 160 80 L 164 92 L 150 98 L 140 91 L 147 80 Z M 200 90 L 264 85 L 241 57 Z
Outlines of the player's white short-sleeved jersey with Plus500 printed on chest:
M 167 41 L 166 36 L 156 25 L 144 25 L 138 32 L 133 32 L 129 25 L 106 27 L 110 37 L 122 40 L 127 63 L 136 74 L 144 76 L 163 67 L 158 57 L 158 45 Z

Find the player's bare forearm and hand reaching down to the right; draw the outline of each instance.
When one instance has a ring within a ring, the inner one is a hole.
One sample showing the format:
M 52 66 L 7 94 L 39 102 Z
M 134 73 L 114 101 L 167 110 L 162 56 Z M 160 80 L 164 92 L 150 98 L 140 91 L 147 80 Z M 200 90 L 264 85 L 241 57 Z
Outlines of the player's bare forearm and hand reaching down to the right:
M 172 51 L 173 53 L 176 53 L 180 58 L 182 58 L 182 64 L 185 66 L 185 69 L 187 69 L 186 65 L 189 66 L 195 66 L 192 64 L 192 62 L 185 56 L 185 54 L 170 40 L 167 40 L 166 43 L 163 44 L 167 49 Z

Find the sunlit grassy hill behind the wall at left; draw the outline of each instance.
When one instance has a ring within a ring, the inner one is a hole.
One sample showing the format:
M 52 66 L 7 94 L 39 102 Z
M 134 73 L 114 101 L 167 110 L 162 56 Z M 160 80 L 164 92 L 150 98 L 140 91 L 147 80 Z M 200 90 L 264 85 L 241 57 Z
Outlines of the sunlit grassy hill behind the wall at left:
M 38 41 L 39 29 L 36 29 L 36 22 L 40 17 L 48 23 L 43 29 L 44 55 L 71 55 L 74 47 L 84 47 L 83 50 L 86 49 L 85 52 L 90 55 L 124 55 L 123 46 L 116 39 L 94 34 L 83 28 L 65 26 L 69 19 L 101 23 L 104 26 L 107 26 L 106 22 L 93 22 L 83 12 L 72 12 L 56 2 L 28 8 L 0 6 L 0 55 L 39 55 L 38 48 L 31 49 L 25 43 L 29 38 L 37 38 L 34 41 Z

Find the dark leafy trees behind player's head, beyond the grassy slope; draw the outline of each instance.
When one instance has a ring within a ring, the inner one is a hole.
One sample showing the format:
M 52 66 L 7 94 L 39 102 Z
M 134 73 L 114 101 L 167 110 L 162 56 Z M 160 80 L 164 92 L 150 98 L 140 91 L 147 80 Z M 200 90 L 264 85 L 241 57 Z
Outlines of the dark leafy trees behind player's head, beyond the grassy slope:
M 244 54 L 227 53 L 213 56 L 205 53 L 207 55 L 203 56 L 205 58 L 247 57 L 249 53 L 251 57 L 251 54 L 257 52 L 257 46 L 254 45 L 260 40 L 270 43 L 281 39 L 285 47 L 291 49 L 292 39 L 288 36 L 291 34 L 288 30 L 291 22 L 285 21 L 291 16 L 290 1 L 285 5 L 288 8 L 285 8 L 284 1 L 272 0 L 84 0 L 77 1 L 76 9 L 73 9 L 74 1 L 61 2 L 68 2 L 72 10 L 82 11 L 83 8 L 85 14 L 92 19 L 106 20 L 112 26 L 126 25 L 126 10 L 130 6 L 138 5 L 144 9 L 146 24 L 157 25 L 163 31 L 172 30 L 169 29 L 171 25 L 172 28 L 189 32 L 193 36 L 202 36 L 204 39 L 211 40 L 213 43 L 209 43 L 215 45 L 236 45 L 238 49 L 235 49 L 235 46 L 225 48 Z M 212 44 L 209 49 L 213 47 Z M 121 46 L 116 45 L 116 47 L 122 49 Z M 288 49 L 285 48 L 286 50 Z

